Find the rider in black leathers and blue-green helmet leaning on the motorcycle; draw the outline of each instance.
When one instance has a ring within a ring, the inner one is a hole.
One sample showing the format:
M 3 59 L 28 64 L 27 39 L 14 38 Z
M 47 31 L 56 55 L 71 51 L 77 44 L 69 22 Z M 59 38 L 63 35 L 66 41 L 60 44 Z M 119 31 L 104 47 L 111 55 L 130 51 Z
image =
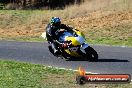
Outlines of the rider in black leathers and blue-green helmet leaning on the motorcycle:
M 61 24 L 61 20 L 59 17 L 52 17 L 50 23 L 46 27 L 47 41 L 49 44 L 51 44 L 55 55 L 60 54 L 58 49 L 58 45 L 60 45 L 59 35 L 65 30 L 71 31 L 72 28 L 65 24 Z

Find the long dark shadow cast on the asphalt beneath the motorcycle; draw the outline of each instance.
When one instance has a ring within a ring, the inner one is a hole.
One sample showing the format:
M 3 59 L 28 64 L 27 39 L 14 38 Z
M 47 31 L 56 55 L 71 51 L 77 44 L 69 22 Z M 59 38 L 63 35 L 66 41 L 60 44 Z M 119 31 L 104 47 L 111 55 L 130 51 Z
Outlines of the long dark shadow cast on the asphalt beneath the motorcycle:
M 89 61 L 89 60 L 85 58 L 70 58 L 66 61 Z M 122 59 L 98 59 L 97 61 L 89 61 L 89 62 L 129 62 L 129 61 Z

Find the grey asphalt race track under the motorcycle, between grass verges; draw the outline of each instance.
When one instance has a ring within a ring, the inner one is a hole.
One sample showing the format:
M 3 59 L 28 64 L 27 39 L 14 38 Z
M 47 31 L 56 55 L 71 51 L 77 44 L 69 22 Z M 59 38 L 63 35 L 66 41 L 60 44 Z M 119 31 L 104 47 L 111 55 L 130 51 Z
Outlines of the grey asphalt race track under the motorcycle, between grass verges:
M 93 73 L 132 75 L 132 48 L 95 45 L 92 47 L 98 52 L 99 61 L 88 62 L 56 58 L 48 51 L 47 46 L 45 42 L 0 41 L 0 58 L 73 70 L 82 66 Z

